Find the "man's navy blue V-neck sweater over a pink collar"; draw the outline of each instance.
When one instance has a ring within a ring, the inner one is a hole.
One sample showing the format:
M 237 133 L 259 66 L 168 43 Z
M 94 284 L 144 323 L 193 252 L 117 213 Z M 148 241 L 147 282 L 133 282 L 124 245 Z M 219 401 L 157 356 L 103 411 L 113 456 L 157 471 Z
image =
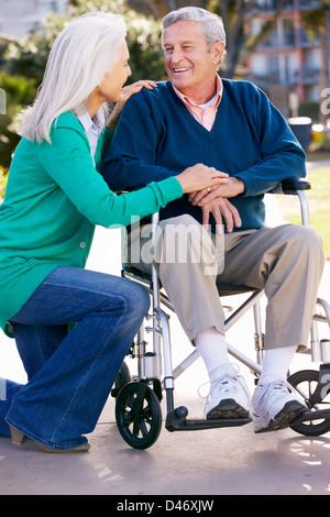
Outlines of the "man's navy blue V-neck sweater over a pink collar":
M 244 182 L 245 193 L 230 198 L 242 219 L 239 230 L 261 228 L 264 193 L 287 177 L 304 177 L 306 156 L 262 90 L 248 81 L 222 82 L 211 131 L 195 120 L 169 81 L 132 96 L 101 169 L 110 188 L 141 188 L 204 163 Z M 201 209 L 187 196 L 168 204 L 161 218 L 183 213 L 201 222 Z

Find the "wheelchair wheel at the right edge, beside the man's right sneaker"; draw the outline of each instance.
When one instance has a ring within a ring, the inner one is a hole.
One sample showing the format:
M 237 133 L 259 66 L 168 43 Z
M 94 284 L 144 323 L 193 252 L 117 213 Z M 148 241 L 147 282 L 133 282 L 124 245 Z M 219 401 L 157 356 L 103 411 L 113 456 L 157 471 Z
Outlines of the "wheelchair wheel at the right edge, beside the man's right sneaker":
M 304 395 L 305 403 L 310 411 L 317 409 L 328 409 L 330 407 L 330 398 L 326 397 L 326 399 L 321 400 L 317 404 L 317 406 L 311 406 L 310 397 L 315 393 L 318 381 L 319 381 L 319 372 L 316 370 L 302 370 L 300 372 L 296 372 L 293 374 L 288 380 L 288 383 L 297 388 L 298 393 Z M 300 424 L 293 424 L 290 428 L 299 432 L 300 435 L 305 435 L 307 437 L 318 437 L 320 435 L 324 435 L 326 432 L 330 431 L 330 418 L 323 418 L 320 420 L 311 420 Z

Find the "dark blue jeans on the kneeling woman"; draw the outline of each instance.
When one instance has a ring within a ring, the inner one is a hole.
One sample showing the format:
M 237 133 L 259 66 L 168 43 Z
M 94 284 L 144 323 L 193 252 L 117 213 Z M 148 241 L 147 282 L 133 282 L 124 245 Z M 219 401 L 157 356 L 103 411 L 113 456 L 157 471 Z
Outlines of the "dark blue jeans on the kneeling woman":
M 29 382 L 8 384 L 0 418 L 53 449 L 86 443 L 148 306 L 131 280 L 54 270 L 11 319 Z

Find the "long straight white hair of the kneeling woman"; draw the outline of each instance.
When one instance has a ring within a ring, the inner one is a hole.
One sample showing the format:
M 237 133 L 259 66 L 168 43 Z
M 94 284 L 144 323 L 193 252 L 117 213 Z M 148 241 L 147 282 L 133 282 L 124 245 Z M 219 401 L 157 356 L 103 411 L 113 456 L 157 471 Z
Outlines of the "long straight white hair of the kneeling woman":
M 20 134 L 51 143 L 54 120 L 86 109 L 89 95 L 118 62 L 125 35 L 123 18 L 113 13 L 91 12 L 70 22 L 54 42 L 33 106 L 20 116 Z

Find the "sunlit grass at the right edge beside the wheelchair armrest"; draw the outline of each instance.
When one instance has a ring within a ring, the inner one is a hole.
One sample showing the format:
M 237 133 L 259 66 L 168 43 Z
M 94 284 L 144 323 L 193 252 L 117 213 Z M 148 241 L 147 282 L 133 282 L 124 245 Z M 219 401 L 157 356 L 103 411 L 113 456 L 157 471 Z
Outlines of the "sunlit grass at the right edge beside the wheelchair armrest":
M 327 258 L 330 260 L 330 166 L 312 168 L 307 174 L 311 189 L 306 190 L 309 202 L 310 226 L 321 235 Z M 300 223 L 297 205 L 280 196 L 279 209 L 288 222 Z M 298 208 L 299 210 L 299 208 Z

